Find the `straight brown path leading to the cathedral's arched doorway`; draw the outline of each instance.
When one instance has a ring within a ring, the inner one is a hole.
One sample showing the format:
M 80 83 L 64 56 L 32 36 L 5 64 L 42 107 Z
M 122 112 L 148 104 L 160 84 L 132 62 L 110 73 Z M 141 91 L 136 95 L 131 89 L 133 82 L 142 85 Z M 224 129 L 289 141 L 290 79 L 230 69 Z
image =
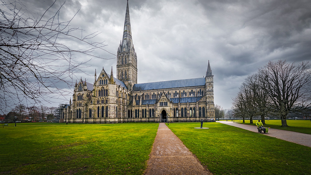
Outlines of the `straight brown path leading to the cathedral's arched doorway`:
M 183 142 L 160 123 L 145 174 L 211 174 Z

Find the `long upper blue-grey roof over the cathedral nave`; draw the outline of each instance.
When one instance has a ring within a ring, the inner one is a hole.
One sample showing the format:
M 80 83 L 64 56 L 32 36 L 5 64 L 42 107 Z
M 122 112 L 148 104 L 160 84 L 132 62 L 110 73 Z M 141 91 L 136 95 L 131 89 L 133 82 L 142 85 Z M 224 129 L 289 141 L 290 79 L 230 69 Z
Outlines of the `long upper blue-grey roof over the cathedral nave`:
M 141 83 L 133 86 L 134 91 L 153 90 L 153 89 L 167 89 L 167 88 L 181 88 L 192 86 L 204 86 L 205 78 L 193 78 L 185 80 L 160 81 L 152 83 Z

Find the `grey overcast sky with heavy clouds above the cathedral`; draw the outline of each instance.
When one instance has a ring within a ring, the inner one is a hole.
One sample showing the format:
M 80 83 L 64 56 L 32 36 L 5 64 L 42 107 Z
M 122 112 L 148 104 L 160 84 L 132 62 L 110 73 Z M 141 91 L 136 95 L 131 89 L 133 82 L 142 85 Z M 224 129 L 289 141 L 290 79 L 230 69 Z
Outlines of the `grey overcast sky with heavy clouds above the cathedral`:
M 28 0 L 24 5 L 40 14 L 52 3 Z M 58 0 L 51 14 L 61 4 Z M 104 49 L 116 55 L 126 4 L 126 0 L 67 0 L 60 20 L 69 20 L 80 9 L 71 25 L 83 29 L 84 36 L 100 32 L 93 41 L 104 41 L 108 45 Z M 203 77 L 209 60 L 215 104 L 224 109 L 231 107 L 244 78 L 269 60 L 311 60 L 310 0 L 129 0 L 129 12 L 138 83 Z M 103 67 L 109 74 L 113 67 L 116 77 L 116 56 L 104 51 L 94 55 L 114 59 L 92 58 L 73 82 L 82 77 L 94 83 L 95 69 L 99 73 Z

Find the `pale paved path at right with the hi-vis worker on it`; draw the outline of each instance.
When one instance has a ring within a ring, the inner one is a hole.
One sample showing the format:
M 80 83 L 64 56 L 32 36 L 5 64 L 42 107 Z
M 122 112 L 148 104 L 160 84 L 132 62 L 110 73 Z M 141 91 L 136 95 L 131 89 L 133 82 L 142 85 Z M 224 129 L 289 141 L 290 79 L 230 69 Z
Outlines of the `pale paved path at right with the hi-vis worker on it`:
M 253 125 L 245 125 L 245 124 L 234 123 L 234 122 L 229 122 L 229 121 L 228 122 L 217 121 L 217 122 L 223 123 L 226 125 L 231 125 L 234 127 L 239 127 L 242 129 L 246 129 L 248 131 L 258 132 L 257 127 Z M 299 133 L 299 132 L 269 128 L 268 133 L 265 133 L 264 135 L 286 140 L 286 141 L 293 142 L 293 143 L 297 143 L 299 145 L 311 147 L 311 134 L 304 134 L 304 133 Z

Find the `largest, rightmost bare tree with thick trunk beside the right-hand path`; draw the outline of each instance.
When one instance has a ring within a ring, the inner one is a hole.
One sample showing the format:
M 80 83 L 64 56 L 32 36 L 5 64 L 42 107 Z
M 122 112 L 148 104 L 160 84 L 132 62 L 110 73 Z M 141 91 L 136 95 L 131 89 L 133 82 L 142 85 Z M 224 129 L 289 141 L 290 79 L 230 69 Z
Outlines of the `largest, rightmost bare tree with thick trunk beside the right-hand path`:
M 306 111 L 311 106 L 311 70 L 309 62 L 299 64 L 279 60 L 259 69 L 260 80 L 271 99 L 270 111 L 280 116 L 287 127 L 289 113 Z

